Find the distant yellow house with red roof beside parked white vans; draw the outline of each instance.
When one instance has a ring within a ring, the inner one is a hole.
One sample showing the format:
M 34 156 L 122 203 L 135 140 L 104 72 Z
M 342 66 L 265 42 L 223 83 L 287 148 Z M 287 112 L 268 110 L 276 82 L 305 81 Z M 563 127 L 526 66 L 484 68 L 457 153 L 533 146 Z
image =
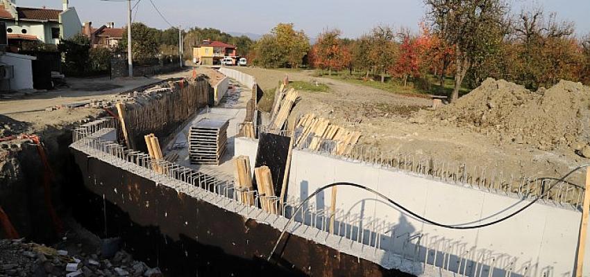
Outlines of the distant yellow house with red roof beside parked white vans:
M 193 48 L 192 57 L 196 64 L 219 64 L 224 57 L 230 57 L 235 61 L 237 47 L 225 42 L 206 39 L 199 47 Z

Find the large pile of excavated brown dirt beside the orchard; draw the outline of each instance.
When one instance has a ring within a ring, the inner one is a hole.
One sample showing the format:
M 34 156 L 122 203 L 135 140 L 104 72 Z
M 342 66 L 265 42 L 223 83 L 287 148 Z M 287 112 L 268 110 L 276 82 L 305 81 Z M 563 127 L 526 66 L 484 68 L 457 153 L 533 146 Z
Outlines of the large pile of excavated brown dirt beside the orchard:
M 581 83 L 562 80 L 533 92 L 512 82 L 488 79 L 434 116 L 542 150 L 560 145 L 578 149 L 590 137 L 589 104 L 590 87 Z

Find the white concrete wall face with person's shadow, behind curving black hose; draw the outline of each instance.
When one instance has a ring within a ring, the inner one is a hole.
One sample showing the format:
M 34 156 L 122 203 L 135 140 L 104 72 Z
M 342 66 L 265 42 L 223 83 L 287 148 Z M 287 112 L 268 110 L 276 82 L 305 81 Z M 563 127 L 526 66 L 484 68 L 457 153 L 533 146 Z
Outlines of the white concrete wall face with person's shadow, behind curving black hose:
M 258 141 L 244 138 L 235 141 L 236 155 L 245 154 L 255 159 Z M 254 161 L 251 164 L 255 164 Z M 289 174 L 288 197 L 304 199 L 321 186 L 352 182 L 373 188 L 411 211 L 443 224 L 491 222 L 528 203 L 401 170 L 303 150 L 294 150 Z M 330 199 L 331 190 L 328 189 L 310 206 L 328 207 Z M 361 215 L 361 222 L 355 226 L 369 228 L 371 219 L 384 220 L 384 229 L 380 232 L 382 248 L 407 255 L 414 255 L 415 249 L 419 249 L 417 257 L 421 261 L 428 251 L 430 265 L 435 260 L 431 249 L 437 249 L 437 265 L 443 265 L 445 260 L 445 267 L 457 272 L 461 264 L 461 271 L 466 266 L 469 276 L 488 276 L 491 267 L 494 268 L 491 276 L 506 276 L 507 273 L 512 276 L 571 276 L 573 273 L 581 213 L 572 208 L 533 204 L 509 220 L 475 230 L 452 230 L 425 224 L 359 188 L 338 188 L 337 208 L 351 215 Z M 420 244 L 414 240 L 410 247 L 405 245 L 410 234 L 422 234 Z M 590 253 L 590 242 L 587 242 L 586 251 Z M 584 263 L 590 265 L 589 256 Z M 588 275 L 590 267 L 584 267 L 584 276 Z

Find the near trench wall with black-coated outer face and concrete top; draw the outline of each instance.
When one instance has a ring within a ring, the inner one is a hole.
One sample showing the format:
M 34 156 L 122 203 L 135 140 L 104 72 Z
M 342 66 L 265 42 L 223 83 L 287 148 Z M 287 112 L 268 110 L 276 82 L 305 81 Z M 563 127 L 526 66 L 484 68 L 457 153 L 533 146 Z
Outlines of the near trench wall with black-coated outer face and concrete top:
M 134 256 L 171 276 L 411 276 L 310 240 L 318 232 L 305 228 L 288 235 L 278 248 L 282 256 L 267 262 L 280 235 L 277 226 L 287 223 L 284 217 L 237 205 L 81 144 L 74 143 L 71 151 L 85 188 L 94 195 L 87 197 L 85 225 L 120 236 Z M 338 242 L 330 236 L 323 240 Z M 356 246 L 357 253 L 381 257 Z

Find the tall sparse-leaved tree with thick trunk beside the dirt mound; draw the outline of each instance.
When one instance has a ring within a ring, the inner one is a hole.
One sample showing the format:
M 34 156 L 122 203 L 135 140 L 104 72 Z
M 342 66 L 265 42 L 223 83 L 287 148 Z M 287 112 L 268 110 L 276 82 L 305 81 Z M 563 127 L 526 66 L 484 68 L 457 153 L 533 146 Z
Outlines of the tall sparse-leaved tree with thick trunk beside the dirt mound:
M 455 48 L 455 88 L 459 90 L 474 60 L 486 53 L 490 43 L 497 42 L 496 32 L 505 25 L 507 6 L 503 0 L 424 0 L 427 17 L 437 35 Z

